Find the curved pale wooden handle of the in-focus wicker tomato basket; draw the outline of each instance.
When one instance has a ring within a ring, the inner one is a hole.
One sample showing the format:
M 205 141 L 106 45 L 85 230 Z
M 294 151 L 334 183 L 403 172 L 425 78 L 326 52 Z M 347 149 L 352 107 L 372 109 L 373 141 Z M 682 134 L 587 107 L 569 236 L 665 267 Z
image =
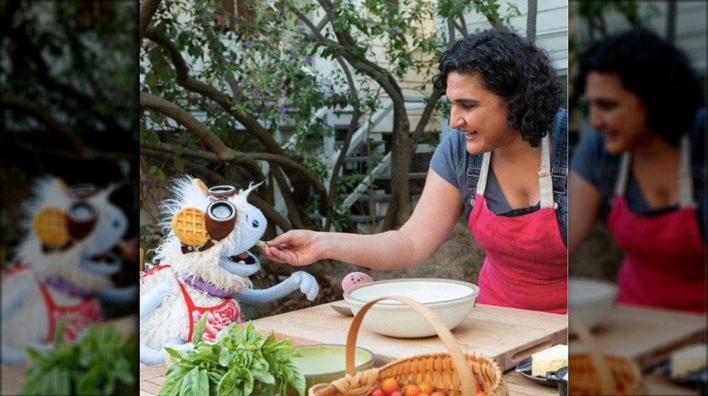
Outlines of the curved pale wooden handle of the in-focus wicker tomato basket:
M 412 298 L 404 296 L 382 296 L 379 298 L 375 298 L 374 300 L 369 301 L 364 306 L 362 306 L 359 312 L 354 316 L 354 320 L 352 321 L 349 327 L 349 333 L 347 334 L 347 374 L 355 375 L 356 373 L 356 366 L 354 364 L 356 338 L 359 334 L 359 328 L 361 327 L 362 320 L 364 320 L 364 315 L 367 313 L 369 308 L 371 308 L 375 303 L 378 303 L 382 300 L 395 300 L 399 301 L 400 303 L 409 305 L 409 307 L 413 308 L 413 310 L 416 310 L 417 313 L 421 314 L 421 316 L 423 316 L 423 318 L 428 321 L 430 326 L 432 326 L 435 332 L 438 333 L 438 336 L 440 337 L 440 339 L 442 339 L 442 342 L 445 344 L 445 347 L 447 347 L 447 351 L 450 353 L 450 358 L 452 358 L 452 363 L 455 366 L 457 375 L 459 375 L 459 379 L 460 381 L 462 381 L 462 395 L 476 396 L 476 391 L 474 387 L 474 375 L 472 375 L 472 370 L 470 370 L 467 365 L 467 359 L 465 359 L 464 355 L 462 354 L 462 350 L 459 349 L 459 345 L 457 345 L 457 342 L 455 342 L 455 337 L 452 336 L 450 330 L 447 330 L 447 327 L 445 327 L 440 318 L 435 316 L 434 313 L 430 312 L 430 310 L 428 310 L 428 308 L 426 308 L 424 305 L 418 303 L 418 301 L 415 301 Z

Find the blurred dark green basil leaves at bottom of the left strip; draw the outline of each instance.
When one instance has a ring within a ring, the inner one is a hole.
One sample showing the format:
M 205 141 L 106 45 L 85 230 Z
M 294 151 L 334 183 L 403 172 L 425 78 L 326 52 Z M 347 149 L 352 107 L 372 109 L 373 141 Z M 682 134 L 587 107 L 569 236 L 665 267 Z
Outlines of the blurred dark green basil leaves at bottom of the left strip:
M 113 325 L 94 324 L 77 342 L 64 341 L 66 317 L 52 349 L 28 349 L 22 395 L 132 395 L 138 363 L 136 334 L 122 337 Z

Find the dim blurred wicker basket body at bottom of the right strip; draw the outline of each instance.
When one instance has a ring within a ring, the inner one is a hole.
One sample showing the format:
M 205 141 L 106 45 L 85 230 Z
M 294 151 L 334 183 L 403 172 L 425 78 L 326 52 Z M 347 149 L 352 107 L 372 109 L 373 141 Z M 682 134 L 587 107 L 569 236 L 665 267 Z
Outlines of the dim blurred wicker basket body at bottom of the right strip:
M 611 391 L 603 392 L 602 381 L 590 355 L 576 353 L 569 356 L 568 395 L 646 395 L 641 371 L 634 361 L 613 354 L 603 354 L 603 359 L 610 370 Z

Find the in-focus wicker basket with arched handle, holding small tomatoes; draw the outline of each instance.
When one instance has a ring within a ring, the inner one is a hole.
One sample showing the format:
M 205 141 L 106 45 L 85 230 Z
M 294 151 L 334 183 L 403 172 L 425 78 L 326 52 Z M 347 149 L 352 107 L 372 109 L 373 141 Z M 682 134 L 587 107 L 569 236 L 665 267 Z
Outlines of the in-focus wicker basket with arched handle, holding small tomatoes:
M 354 349 L 364 315 L 378 301 L 392 299 L 409 305 L 420 313 L 438 333 L 448 353 L 421 354 L 392 361 L 380 368 L 355 371 Z M 464 369 L 460 369 L 464 368 Z M 463 354 L 455 337 L 442 321 L 420 303 L 402 296 L 385 296 L 366 303 L 352 321 L 346 344 L 346 376 L 329 384 L 314 385 L 309 396 L 367 396 L 384 378 L 399 383 L 428 380 L 448 395 L 476 396 L 475 384 L 481 383 L 489 396 L 506 396 L 508 390 L 496 361 L 481 354 Z

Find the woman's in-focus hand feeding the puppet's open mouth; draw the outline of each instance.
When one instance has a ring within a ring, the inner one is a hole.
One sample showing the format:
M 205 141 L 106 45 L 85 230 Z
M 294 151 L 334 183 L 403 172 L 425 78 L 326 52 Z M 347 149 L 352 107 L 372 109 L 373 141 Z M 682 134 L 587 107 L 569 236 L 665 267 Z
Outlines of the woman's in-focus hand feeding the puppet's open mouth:
M 321 254 L 321 233 L 292 230 L 266 242 L 263 255 L 275 262 L 285 262 L 297 267 L 312 264 L 324 258 Z

